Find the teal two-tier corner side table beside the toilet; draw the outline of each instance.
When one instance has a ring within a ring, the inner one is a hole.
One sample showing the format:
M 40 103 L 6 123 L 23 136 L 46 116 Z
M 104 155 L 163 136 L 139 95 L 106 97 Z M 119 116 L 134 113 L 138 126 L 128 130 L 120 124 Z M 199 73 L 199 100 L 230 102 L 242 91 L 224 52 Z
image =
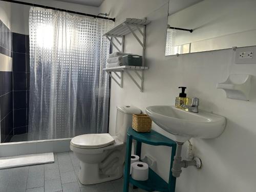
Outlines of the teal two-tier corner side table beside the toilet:
M 166 183 L 160 176 L 158 176 L 151 168 L 149 168 L 148 170 L 148 180 L 146 181 L 137 181 L 134 180 L 132 176 L 130 176 L 133 139 L 136 140 L 135 154 L 138 156 L 140 156 L 141 154 L 141 143 L 146 143 L 155 146 L 165 145 L 172 147 L 168 183 Z M 172 167 L 175 153 L 176 142 L 173 141 L 172 139 L 169 139 L 153 130 L 151 130 L 150 133 L 138 133 L 134 131 L 132 127 L 130 127 L 127 131 L 123 192 L 129 191 L 129 183 L 132 183 L 136 187 L 139 187 L 146 191 L 175 192 L 176 178 L 173 177 L 172 175 Z

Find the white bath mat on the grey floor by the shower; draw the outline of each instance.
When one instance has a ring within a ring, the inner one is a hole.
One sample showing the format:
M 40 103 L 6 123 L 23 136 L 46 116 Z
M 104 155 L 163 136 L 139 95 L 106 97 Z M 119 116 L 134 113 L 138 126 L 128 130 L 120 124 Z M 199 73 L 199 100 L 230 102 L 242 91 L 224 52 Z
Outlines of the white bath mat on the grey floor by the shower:
M 53 153 L 1 157 L 0 169 L 27 166 L 27 165 L 36 165 L 36 164 L 43 164 L 43 163 L 53 163 L 53 162 L 54 162 Z

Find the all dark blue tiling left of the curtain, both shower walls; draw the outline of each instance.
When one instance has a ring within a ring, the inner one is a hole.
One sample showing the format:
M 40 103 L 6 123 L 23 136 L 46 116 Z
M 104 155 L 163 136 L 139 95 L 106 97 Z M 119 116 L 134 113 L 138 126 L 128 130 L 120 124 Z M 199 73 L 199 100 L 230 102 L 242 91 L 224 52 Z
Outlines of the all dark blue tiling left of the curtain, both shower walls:
M 29 35 L 12 33 L 0 20 L 0 53 L 13 58 L 13 72 L 0 71 L 1 142 L 9 142 L 28 131 Z

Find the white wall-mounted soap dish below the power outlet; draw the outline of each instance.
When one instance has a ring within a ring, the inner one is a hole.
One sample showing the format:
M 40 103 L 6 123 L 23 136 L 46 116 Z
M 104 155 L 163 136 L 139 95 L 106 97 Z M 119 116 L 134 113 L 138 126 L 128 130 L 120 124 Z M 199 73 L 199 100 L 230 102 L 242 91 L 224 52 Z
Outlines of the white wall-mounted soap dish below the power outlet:
M 225 82 L 217 83 L 217 89 L 223 89 L 227 98 L 249 100 L 251 75 L 230 74 Z

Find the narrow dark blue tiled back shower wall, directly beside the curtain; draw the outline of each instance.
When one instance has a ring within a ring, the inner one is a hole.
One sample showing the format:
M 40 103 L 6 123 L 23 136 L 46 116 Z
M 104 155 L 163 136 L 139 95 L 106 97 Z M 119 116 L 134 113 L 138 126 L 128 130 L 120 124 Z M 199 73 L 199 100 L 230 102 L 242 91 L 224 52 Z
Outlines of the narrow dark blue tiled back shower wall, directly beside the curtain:
M 29 35 L 12 33 L 13 47 L 13 133 L 28 131 Z

